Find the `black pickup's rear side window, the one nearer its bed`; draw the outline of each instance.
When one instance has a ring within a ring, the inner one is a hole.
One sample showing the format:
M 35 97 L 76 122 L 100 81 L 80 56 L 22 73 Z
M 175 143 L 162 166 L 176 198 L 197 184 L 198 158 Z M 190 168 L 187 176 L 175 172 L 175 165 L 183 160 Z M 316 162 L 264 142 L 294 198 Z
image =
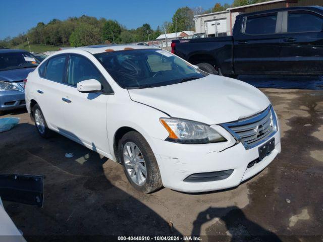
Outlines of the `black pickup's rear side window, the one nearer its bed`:
M 277 13 L 247 17 L 246 34 L 273 34 L 276 32 Z

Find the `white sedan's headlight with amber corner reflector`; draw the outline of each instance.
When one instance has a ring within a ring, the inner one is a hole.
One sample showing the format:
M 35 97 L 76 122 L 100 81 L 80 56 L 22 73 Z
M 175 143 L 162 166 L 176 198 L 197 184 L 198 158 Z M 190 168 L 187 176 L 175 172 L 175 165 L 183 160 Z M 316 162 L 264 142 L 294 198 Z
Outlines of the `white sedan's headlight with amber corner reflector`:
M 176 143 L 205 144 L 227 141 L 209 125 L 180 118 L 159 118 L 170 134 L 166 139 Z

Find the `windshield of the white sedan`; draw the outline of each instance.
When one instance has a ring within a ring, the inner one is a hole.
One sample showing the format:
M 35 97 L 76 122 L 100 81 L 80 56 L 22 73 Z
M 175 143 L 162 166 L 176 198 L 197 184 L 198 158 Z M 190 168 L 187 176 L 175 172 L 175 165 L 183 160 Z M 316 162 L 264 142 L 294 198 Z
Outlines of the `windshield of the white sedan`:
M 208 75 L 161 49 L 111 51 L 94 56 L 126 89 L 171 85 Z

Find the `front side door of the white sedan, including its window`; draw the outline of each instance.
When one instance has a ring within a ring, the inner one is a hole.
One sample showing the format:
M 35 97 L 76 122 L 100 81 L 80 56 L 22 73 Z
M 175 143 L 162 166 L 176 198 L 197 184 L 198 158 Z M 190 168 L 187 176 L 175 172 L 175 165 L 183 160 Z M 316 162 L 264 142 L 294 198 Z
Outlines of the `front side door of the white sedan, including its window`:
M 106 132 L 107 99 L 110 95 L 79 92 L 76 84 L 88 79 L 109 85 L 87 57 L 70 54 L 66 85 L 62 91 L 65 133 L 98 153 L 110 154 Z

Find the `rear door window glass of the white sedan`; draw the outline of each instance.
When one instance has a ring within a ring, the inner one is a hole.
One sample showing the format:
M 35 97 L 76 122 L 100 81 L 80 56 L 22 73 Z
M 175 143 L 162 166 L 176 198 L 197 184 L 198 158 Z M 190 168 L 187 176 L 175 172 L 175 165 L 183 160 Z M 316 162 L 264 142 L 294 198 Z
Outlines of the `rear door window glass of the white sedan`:
M 52 57 L 47 62 L 45 78 L 55 82 L 64 82 L 66 55 Z

